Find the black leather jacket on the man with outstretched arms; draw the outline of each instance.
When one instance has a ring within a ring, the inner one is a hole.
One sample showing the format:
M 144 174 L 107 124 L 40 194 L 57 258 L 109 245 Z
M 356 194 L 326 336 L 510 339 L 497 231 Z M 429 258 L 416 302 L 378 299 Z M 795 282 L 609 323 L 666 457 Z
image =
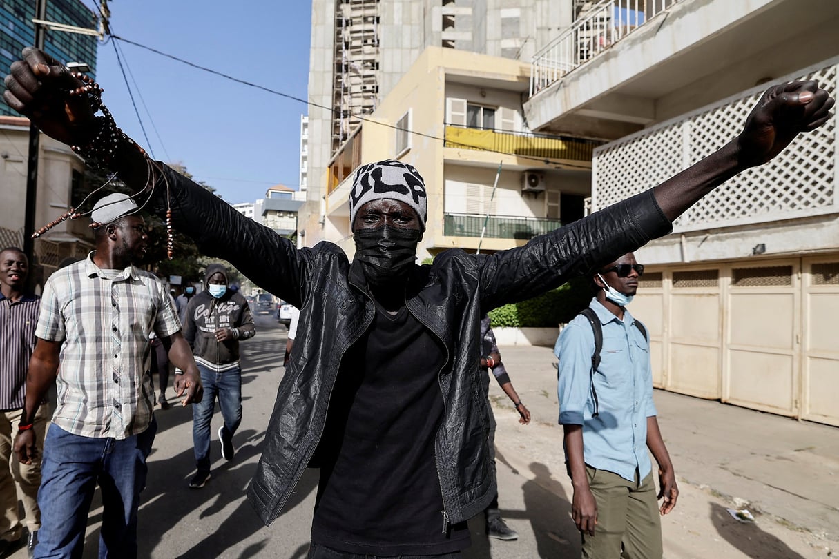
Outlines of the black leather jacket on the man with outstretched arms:
M 259 287 L 300 308 L 305 324 L 280 381 L 248 489 L 258 515 L 270 524 L 315 452 L 341 358 L 372 322 L 373 301 L 360 269 L 334 244 L 297 250 L 188 179 L 174 172 L 167 177 L 175 229 L 195 239 L 203 253 L 230 261 Z M 156 198 L 155 209 L 165 215 L 163 199 Z M 430 266 L 414 267 L 407 308 L 446 347 L 439 373 L 445 417 L 435 439 L 442 523 L 477 515 L 495 493 L 481 387 L 485 373 L 479 365 L 483 313 L 558 287 L 668 232 L 670 221 L 648 191 L 526 246 L 491 255 L 454 249 Z

